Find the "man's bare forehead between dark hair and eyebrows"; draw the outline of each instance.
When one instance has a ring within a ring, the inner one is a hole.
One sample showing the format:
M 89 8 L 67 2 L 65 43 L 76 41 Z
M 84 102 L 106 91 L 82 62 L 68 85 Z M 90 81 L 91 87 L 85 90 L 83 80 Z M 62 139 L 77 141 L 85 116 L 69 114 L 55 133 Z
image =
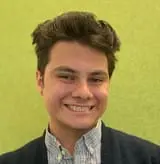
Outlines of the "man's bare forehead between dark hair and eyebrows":
M 60 66 L 71 67 L 77 71 L 108 72 L 107 58 L 103 52 L 77 42 L 60 41 L 52 47 L 48 67 L 55 69 Z

